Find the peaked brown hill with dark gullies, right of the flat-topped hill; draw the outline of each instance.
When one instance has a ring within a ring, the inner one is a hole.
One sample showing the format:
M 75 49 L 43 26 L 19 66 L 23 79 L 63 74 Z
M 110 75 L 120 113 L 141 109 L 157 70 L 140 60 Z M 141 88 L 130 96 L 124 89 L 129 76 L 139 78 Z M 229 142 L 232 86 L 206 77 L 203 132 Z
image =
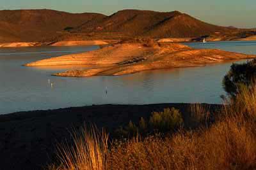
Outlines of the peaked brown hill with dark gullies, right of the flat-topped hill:
M 180 38 L 227 31 L 230 31 L 227 27 L 207 24 L 179 11 L 122 10 L 99 22 L 81 25 L 74 32 L 122 32 L 129 36 Z

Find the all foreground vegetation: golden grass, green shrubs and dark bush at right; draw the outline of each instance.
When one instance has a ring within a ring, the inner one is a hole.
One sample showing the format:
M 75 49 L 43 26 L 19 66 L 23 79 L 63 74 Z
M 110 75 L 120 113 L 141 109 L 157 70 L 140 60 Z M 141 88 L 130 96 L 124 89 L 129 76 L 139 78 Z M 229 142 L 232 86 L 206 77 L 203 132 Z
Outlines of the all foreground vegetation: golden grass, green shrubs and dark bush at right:
M 212 114 L 207 105 L 191 104 L 191 127 L 184 127 L 179 110 L 166 108 L 116 129 L 122 138 L 82 128 L 74 133 L 73 146 L 60 145 L 59 164 L 49 169 L 256 169 L 256 84 L 254 72 L 247 70 L 254 63 L 231 67 L 225 89 L 234 87 L 227 78 L 243 79 L 234 93 L 227 90 L 220 111 Z

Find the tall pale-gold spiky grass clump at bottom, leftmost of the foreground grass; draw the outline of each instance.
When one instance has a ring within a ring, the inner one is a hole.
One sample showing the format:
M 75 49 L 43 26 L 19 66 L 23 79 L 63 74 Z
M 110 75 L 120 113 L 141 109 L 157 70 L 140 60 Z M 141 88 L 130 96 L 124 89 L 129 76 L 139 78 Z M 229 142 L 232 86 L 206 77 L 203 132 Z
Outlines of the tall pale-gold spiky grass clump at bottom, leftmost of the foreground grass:
M 95 127 L 82 128 L 72 134 L 72 146 L 58 146 L 61 166 L 51 166 L 58 170 L 103 170 L 107 167 L 108 135 Z M 53 168 L 51 168 L 53 170 Z

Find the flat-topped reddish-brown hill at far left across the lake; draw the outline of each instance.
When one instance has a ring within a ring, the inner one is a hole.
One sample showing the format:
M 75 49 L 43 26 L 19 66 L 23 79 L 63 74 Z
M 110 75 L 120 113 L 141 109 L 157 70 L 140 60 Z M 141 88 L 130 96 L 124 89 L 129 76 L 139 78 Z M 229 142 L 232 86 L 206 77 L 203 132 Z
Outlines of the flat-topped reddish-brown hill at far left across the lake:
M 106 17 L 98 13 L 66 13 L 54 10 L 0 11 L 0 41 L 42 41 L 61 34 L 66 27 L 77 27 Z

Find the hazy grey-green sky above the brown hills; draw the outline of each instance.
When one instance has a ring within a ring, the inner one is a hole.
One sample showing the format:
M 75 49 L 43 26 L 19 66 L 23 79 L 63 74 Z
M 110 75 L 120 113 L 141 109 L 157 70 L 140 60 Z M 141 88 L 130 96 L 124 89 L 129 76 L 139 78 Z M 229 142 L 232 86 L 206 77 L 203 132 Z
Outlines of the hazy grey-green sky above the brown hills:
M 181 11 L 211 24 L 256 28 L 256 0 L 1 0 L 0 10 L 51 9 L 111 15 L 119 10 Z

